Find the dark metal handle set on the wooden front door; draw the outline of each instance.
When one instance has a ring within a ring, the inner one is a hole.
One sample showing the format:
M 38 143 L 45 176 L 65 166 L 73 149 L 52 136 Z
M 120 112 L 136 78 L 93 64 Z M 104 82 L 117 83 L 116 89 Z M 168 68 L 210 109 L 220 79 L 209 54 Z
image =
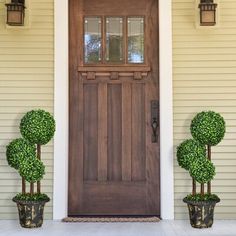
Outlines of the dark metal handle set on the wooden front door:
M 151 101 L 151 127 L 152 127 L 152 143 L 158 142 L 158 127 L 159 127 L 159 102 Z

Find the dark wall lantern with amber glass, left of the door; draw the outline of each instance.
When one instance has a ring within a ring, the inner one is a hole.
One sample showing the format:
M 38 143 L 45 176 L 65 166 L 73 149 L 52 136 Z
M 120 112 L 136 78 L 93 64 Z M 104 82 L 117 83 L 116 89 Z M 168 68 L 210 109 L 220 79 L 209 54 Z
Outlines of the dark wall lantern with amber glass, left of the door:
M 7 24 L 11 26 L 24 25 L 25 18 L 25 0 L 11 0 L 6 4 Z

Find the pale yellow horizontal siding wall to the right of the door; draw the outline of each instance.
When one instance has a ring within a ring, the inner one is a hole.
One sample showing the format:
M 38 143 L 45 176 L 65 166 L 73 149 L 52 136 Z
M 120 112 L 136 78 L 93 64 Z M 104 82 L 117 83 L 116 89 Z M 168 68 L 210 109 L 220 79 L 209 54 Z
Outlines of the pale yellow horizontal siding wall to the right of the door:
M 190 137 L 197 112 L 223 115 L 227 133 L 212 154 L 217 170 L 213 191 L 222 199 L 215 216 L 236 219 L 236 1 L 219 3 L 219 27 L 196 29 L 195 1 L 173 0 L 174 144 Z M 182 198 L 191 191 L 191 180 L 176 160 L 174 174 L 175 218 L 186 219 Z

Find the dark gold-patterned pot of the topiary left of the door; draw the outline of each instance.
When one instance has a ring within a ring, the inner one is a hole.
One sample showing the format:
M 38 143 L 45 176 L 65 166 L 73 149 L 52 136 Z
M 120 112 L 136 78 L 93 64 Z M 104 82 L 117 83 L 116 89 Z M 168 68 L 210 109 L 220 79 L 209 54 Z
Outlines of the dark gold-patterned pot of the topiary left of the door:
M 23 201 L 13 198 L 13 202 L 17 204 L 20 225 L 23 228 L 41 227 L 44 205 L 48 201 Z

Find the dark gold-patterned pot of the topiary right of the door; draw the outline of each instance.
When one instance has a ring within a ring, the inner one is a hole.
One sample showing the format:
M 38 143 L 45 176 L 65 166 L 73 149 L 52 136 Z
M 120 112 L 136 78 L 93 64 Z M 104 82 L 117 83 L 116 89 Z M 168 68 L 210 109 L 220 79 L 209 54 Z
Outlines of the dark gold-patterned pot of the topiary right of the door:
M 210 228 L 214 220 L 214 208 L 219 201 L 195 202 L 183 199 L 188 204 L 190 224 L 194 228 Z

